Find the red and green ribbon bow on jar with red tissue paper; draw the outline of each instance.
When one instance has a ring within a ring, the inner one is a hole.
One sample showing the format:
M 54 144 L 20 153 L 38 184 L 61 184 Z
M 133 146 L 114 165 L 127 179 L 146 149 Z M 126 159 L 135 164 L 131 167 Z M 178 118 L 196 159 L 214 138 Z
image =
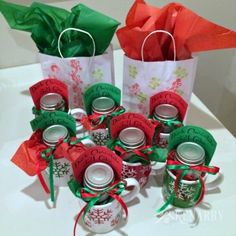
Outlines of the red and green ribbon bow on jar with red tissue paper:
M 38 174 L 39 177 L 39 181 L 43 187 L 43 189 L 45 190 L 46 193 L 50 193 L 50 197 L 51 197 L 51 201 L 54 202 L 55 201 L 55 194 L 54 194 L 54 180 L 53 180 L 53 160 L 56 157 L 59 157 L 58 154 L 60 154 L 60 151 L 63 149 L 61 149 L 62 145 L 64 143 L 67 143 L 67 147 L 66 149 L 70 149 L 72 146 L 77 145 L 78 143 L 81 143 L 82 140 L 89 138 L 89 136 L 85 136 L 83 138 L 80 139 L 61 139 L 57 142 L 57 144 L 53 147 L 49 147 L 45 150 L 43 150 L 41 152 L 41 158 L 44 159 L 45 161 L 47 161 L 49 163 L 49 187 L 50 187 L 50 191 L 47 187 L 47 184 L 45 182 L 45 180 L 42 177 L 42 174 Z M 58 151 L 59 150 L 59 151 Z M 64 150 L 65 151 L 65 150 Z M 55 153 L 57 152 L 57 154 L 55 155 Z M 64 152 L 65 153 L 65 152 Z M 68 158 L 68 157 L 66 157 Z

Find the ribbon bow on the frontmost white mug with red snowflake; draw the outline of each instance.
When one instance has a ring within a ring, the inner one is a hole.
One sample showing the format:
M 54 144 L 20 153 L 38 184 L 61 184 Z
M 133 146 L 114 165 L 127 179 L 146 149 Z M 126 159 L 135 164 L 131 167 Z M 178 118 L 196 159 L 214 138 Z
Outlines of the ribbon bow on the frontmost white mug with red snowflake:
M 69 185 L 70 190 L 76 197 L 87 202 L 87 204 L 80 210 L 80 212 L 78 213 L 76 217 L 74 229 L 73 229 L 74 236 L 76 235 L 76 227 L 77 227 L 77 224 L 81 215 L 83 214 L 83 218 L 84 218 L 85 215 L 89 212 L 89 210 L 96 203 L 99 202 L 99 200 L 101 199 L 102 196 L 104 196 L 104 194 L 109 195 L 112 199 L 117 200 L 118 203 L 121 205 L 122 209 L 125 211 L 126 218 L 128 217 L 127 206 L 125 202 L 122 200 L 122 198 L 119 196 L 123 192 L 123 190 L 126 188 L 126 182 L 124 180 L 115 181 L 114 183 L 112 183 L 110 186 L 108 186 L 106 189 L 104 189 L 101 192 L 94 192 L 87 187 L 82 187 L 82 185 L 80 185 L 75 179 L 71 179 L 68 182 L 68 185 Z M 111 199 L 108 200 L 107 202 L 103 202 L 102 204 L 106 204 L 110 201 Z

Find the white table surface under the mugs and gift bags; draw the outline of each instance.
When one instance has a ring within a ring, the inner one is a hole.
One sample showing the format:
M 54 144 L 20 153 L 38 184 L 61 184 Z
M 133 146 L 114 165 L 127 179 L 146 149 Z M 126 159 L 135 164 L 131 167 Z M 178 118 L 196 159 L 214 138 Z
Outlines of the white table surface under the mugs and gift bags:
M 115 52 L 117 84 L 122 80 L 122 52 Z M 72 235 L 78 200 L 68 188 L 59 190 L 55 208 L 36 177 L 27 176 L 10 162 L 21 142 L 31 135 L 32 100 L 28 88 L 42 79 L 39 64 L 0 70 L 0 235 Z M 211 91 L 209 91 L 211 92 Z M 217 96 L 217 94 L 212 94 Z M 108 235 L 236 235 L 236 141 L 207 107 L 192 96 L 188 124 L 204 127 L 218 146 L 212 165 L 221 167 L 224 180 L 208 192 L 195 210 L 170 211 L 162 217 L 161 177 L 153 172 L 145 190 L 129 204 L 129 219 Z M 193 213 L 195 215 L 193 215 Z M 77 228 L 77 235 L 93 235 Z

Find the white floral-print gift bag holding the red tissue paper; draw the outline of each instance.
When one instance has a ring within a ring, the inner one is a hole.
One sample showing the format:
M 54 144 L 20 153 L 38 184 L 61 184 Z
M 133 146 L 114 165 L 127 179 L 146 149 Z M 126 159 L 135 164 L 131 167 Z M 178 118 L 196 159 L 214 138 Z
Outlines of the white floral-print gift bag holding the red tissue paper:
M 167 33 L 174 45 L 173 61 L 144 61 L 144 45 L 154 33 Z M 141 47 L 142 61 L 124 55 L 123 106 L 132 112 L 148 115 L 150 97 L 162 91 L 173 91 L 189 104 L 194 78 L 196 75 L 197 57 L 176 61 L 175 41 L 173 36 L 162 30 L 151 32 Z

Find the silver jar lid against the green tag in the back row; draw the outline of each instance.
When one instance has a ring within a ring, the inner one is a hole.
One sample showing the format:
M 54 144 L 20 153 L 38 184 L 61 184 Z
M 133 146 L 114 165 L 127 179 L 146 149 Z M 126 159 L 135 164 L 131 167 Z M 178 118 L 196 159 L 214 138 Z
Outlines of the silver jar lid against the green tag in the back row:
M 115 102 L 109 97 L 98 97 L 92 102 L 93 112 L 107 114 L 115 110 Z

